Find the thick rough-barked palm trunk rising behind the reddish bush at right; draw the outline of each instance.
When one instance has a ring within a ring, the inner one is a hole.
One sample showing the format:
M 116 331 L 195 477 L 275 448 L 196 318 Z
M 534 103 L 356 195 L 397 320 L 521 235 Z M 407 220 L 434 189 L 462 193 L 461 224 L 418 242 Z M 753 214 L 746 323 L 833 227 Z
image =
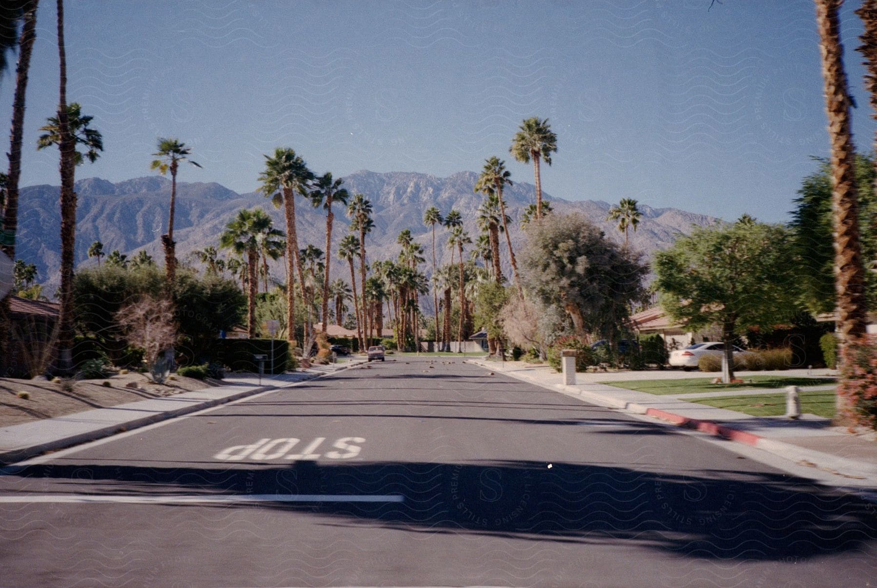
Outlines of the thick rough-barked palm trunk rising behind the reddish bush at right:
M 859 238 L 859 200 L 856 190 L 855 148 L 850 131 L 850 95 L 840 43 L 838 9 L 842 0 L 816 0 L 816 28 L 822 48 L 825 110 L 831 138 L 831 209 L 834 213 L 835 284 L 841 349 L 865 335 L 866 292 Z M 841 357 L 844 357 L 842 354 Z M 838 390 L 843 386 L 838 386 Z M 838 394 L 838 417 L 852 419 L 849 400 Z

